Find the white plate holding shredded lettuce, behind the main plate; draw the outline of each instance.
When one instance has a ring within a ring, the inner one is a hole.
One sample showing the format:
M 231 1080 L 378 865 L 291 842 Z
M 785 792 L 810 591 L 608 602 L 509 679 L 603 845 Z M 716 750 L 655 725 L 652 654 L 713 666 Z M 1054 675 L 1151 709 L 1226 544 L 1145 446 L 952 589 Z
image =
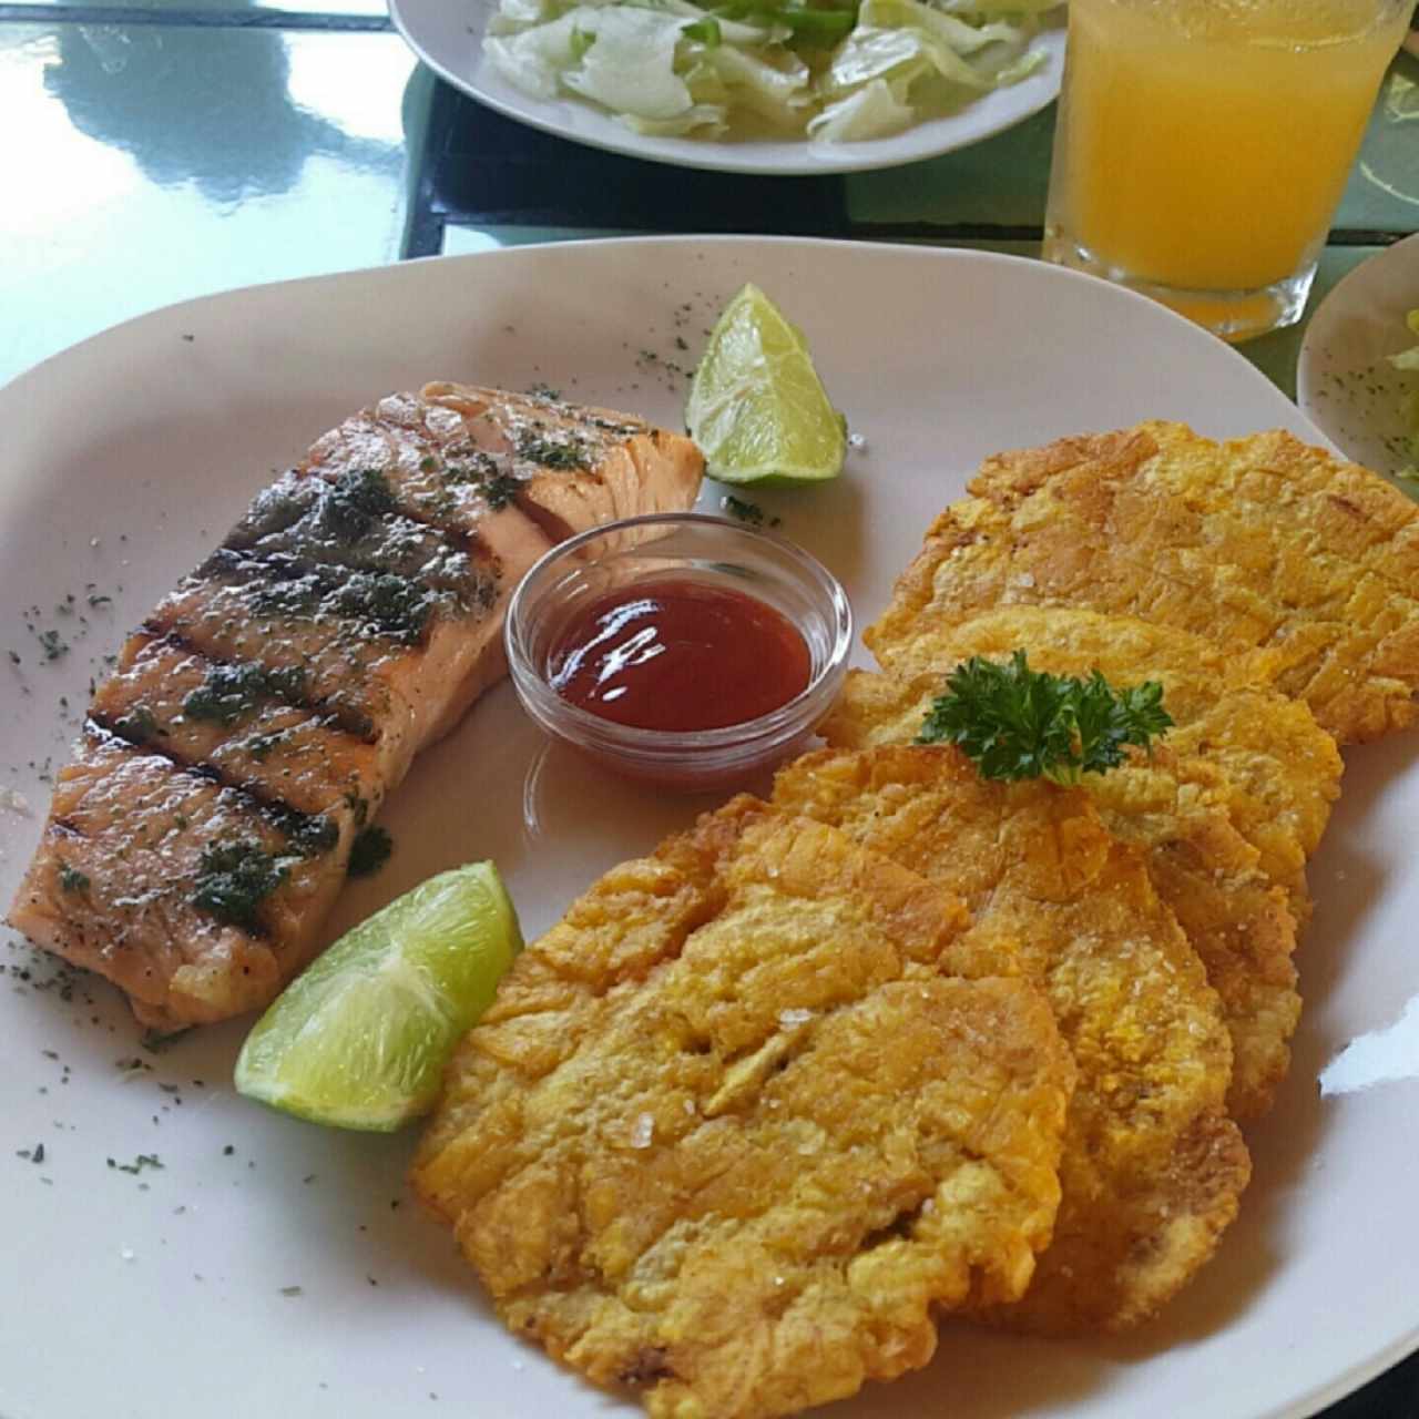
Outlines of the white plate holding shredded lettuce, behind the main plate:
M 644 138 L 590 104 L 570 98 L 538 99 L 508 84 L 482 53 L 484 27 L 495 10 L 497 0 L 390 0 L 389 6 L 399 33 L 424 64 L 499 114 L 613 153 L 731 173 L 850 173 L 938 158 L 1039 112 L 1059 94 L 1064 70 L 1064 11 L 1057 10 L 1046 18 L 1034 40 L 1046 58 L 1037 72 L 982 95 L 959 114 L 918 123 L 891 138 L 860 143 L 809 143 L 797 138 L 752 142 Z

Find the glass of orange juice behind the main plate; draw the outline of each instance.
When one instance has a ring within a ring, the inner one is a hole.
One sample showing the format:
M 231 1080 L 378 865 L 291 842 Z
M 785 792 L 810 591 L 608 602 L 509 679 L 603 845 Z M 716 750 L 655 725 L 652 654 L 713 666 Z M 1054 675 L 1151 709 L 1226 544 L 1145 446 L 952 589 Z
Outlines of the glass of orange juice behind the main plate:
M 1225 339 L 1300 318 L 1413 0 L 1070 0 L 1044 255 Z

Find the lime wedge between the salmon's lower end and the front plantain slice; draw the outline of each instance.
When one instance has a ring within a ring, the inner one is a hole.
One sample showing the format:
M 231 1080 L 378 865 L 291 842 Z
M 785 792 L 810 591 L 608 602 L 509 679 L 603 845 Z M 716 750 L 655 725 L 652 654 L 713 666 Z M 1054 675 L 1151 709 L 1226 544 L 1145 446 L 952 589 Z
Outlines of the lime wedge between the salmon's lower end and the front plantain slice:
M 292 981 L 237 1057 L 237 1093 L 336 1128 L 392 1132 L 433 1108 L 453 1047 L 522 948 L 492 863 L 404 893 Z

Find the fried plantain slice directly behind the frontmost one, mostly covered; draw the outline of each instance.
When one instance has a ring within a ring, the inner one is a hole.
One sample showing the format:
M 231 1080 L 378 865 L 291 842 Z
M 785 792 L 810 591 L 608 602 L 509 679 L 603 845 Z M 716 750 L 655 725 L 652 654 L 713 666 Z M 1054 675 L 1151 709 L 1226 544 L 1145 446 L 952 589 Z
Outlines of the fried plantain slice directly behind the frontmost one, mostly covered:
M 1210 1256 L 1250 1176 L 1226 1112 L 1216 993 L 1139 853 L 1087 795 L 988 783 L 955 749 L 834 749 L 773 800 L 959 893 L 972 935 L 1017 944 L 1078 1066 L 1054 1242 L 992 1321 L 1046 1334 L 1148 1320 Z

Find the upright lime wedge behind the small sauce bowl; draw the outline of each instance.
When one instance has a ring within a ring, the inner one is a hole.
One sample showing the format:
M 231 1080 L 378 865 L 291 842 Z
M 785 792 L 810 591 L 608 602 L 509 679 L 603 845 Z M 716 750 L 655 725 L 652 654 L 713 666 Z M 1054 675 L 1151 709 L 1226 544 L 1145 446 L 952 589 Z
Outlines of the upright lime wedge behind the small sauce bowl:
M 721 482 L 822 482 L 837 477 L 847 451 L 807 342 L 756 285 L 735 295 L 710 333 L 685 424 Z

